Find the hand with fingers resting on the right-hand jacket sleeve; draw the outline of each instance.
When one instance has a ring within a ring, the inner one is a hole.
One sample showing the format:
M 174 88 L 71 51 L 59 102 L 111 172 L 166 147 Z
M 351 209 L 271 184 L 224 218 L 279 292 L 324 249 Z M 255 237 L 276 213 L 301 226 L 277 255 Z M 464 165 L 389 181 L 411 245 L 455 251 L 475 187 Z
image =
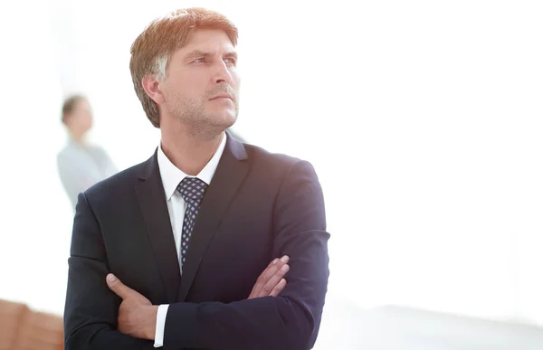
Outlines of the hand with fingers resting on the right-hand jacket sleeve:
M 252 287 L 251 295 L 248 299 L 262 297 L 277 297 L 282 289 L 287 285 L 283 276 L 291 269 L 287 262 L 288 256 L 271 261 L 270 265 L 262 272 Z

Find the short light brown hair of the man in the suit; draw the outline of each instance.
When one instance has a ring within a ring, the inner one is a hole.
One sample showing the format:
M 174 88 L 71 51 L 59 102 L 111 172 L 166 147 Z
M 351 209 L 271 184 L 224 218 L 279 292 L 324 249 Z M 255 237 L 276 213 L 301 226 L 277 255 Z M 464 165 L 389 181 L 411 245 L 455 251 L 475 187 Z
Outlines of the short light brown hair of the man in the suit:
M 148 97 L 142 80 L 148 74 L 157 79 L 167 76 L 167 62 L 172 53 L 186 45 L 190 34 L 197 29 L 218 29 L 224 31 L 237 44 L 237 28 L 223 14 L 205 8 L 187 8 L 174 11 L 151 22 L 138 35 L 130 48 L 130 74 L 134 90 L 141 105 L 155 128 L 160 128 L 157 103 Z

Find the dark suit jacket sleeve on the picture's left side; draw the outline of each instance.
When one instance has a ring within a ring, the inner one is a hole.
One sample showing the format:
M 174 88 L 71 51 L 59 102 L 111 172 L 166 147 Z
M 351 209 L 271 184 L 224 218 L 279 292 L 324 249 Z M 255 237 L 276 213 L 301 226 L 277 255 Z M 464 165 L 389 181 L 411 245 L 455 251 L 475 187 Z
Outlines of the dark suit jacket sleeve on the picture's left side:
M 153 343 L 117 331 L 121 299 L 106 284 L 108 260 L 97 222 L 85 194 L 79 194 L 68 260 L 64 307 L 66 350 L 153 349 Z

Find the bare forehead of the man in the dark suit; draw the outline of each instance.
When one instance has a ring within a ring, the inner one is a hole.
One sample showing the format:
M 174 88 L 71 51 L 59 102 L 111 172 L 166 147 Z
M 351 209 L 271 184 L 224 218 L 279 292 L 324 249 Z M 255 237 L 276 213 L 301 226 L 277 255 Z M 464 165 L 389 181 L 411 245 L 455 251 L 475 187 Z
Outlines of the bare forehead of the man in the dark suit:
M 233 52 L 234 47 L 228 35 L 218 29 L 197 29 L 191 33 L 187 43 L 179 49 L 180 52 L 195 50 L 209 53 Z

